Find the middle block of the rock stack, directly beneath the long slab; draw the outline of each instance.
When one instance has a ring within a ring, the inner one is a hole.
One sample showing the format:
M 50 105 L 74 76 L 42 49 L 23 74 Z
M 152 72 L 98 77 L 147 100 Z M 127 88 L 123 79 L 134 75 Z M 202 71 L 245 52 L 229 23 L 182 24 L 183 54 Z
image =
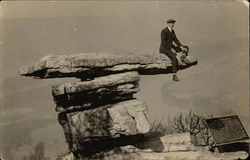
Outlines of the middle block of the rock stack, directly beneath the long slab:
M 139 91 L 139 80 L 137 72 L 119 73 L 90 81 L 54 85 L 52 94 L 57 104 L 57 111 L 80 106 L 94 107 L 131 99 L 133 94 Z

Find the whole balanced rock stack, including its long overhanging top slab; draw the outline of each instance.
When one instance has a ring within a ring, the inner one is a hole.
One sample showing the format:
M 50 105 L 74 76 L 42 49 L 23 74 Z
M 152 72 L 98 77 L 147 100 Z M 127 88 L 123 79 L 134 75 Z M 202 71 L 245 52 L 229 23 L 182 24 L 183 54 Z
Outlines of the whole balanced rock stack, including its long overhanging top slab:
M 190 64 L 179 60 L 183 69 Z M 139 91 L 139 74 L 169 73 L 165 55 L 82 53 L 52 55 L 20 68 L 34 78 L 76 77 L 80 81 L 52 87 L 58 121 L 69 150 L 76 157 L 138 142 L 150 132 L 147 106 L 133 97 Z

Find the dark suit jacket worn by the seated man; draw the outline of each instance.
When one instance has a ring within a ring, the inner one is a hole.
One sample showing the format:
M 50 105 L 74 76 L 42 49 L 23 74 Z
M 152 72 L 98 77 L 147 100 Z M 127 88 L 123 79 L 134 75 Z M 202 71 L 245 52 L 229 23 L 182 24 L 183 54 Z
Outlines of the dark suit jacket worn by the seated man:
M 182 46 L 181 42 L 177 39 L 175 31 L 168 29 L 168 27 L 164 28 L 161 31 L 161 46 L 160 46 L 160 53 L 166 53 L 171 50 L 173 42 L 180 47 Z

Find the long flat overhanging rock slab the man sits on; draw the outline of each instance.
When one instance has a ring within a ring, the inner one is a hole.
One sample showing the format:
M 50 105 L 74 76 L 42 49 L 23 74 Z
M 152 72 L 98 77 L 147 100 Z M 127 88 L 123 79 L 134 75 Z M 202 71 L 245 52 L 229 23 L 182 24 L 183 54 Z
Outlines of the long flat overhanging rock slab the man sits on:
M 187 57 L 190 64 L 183 63 L 180 56 L 177 58 L 182 67 L 189 67 L 197 63 L 197 59 L 192 56 Z M 170 69 L 170 66 L 170 59 L 163 54 L 81 53 L 45 56 L 33 65 L 20 68 L 19 73 L 35 78 L 78 77 L 92 79 L 126 71 L 138 71 L 140 74 L 167 73 L 169 72 L 167 68 Z

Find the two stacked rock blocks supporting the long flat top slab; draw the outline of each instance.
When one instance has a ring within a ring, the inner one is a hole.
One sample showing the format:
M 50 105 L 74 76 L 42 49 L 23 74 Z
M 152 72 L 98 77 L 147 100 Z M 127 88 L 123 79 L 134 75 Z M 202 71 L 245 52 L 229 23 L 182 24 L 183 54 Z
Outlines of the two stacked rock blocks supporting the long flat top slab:
M 52 87 L 58 121 L 71 151 L 98 152 L 133 143 L 139 134 L 149 132 L 147 106 L 133 99 L 139 80 L 132 71 Z

